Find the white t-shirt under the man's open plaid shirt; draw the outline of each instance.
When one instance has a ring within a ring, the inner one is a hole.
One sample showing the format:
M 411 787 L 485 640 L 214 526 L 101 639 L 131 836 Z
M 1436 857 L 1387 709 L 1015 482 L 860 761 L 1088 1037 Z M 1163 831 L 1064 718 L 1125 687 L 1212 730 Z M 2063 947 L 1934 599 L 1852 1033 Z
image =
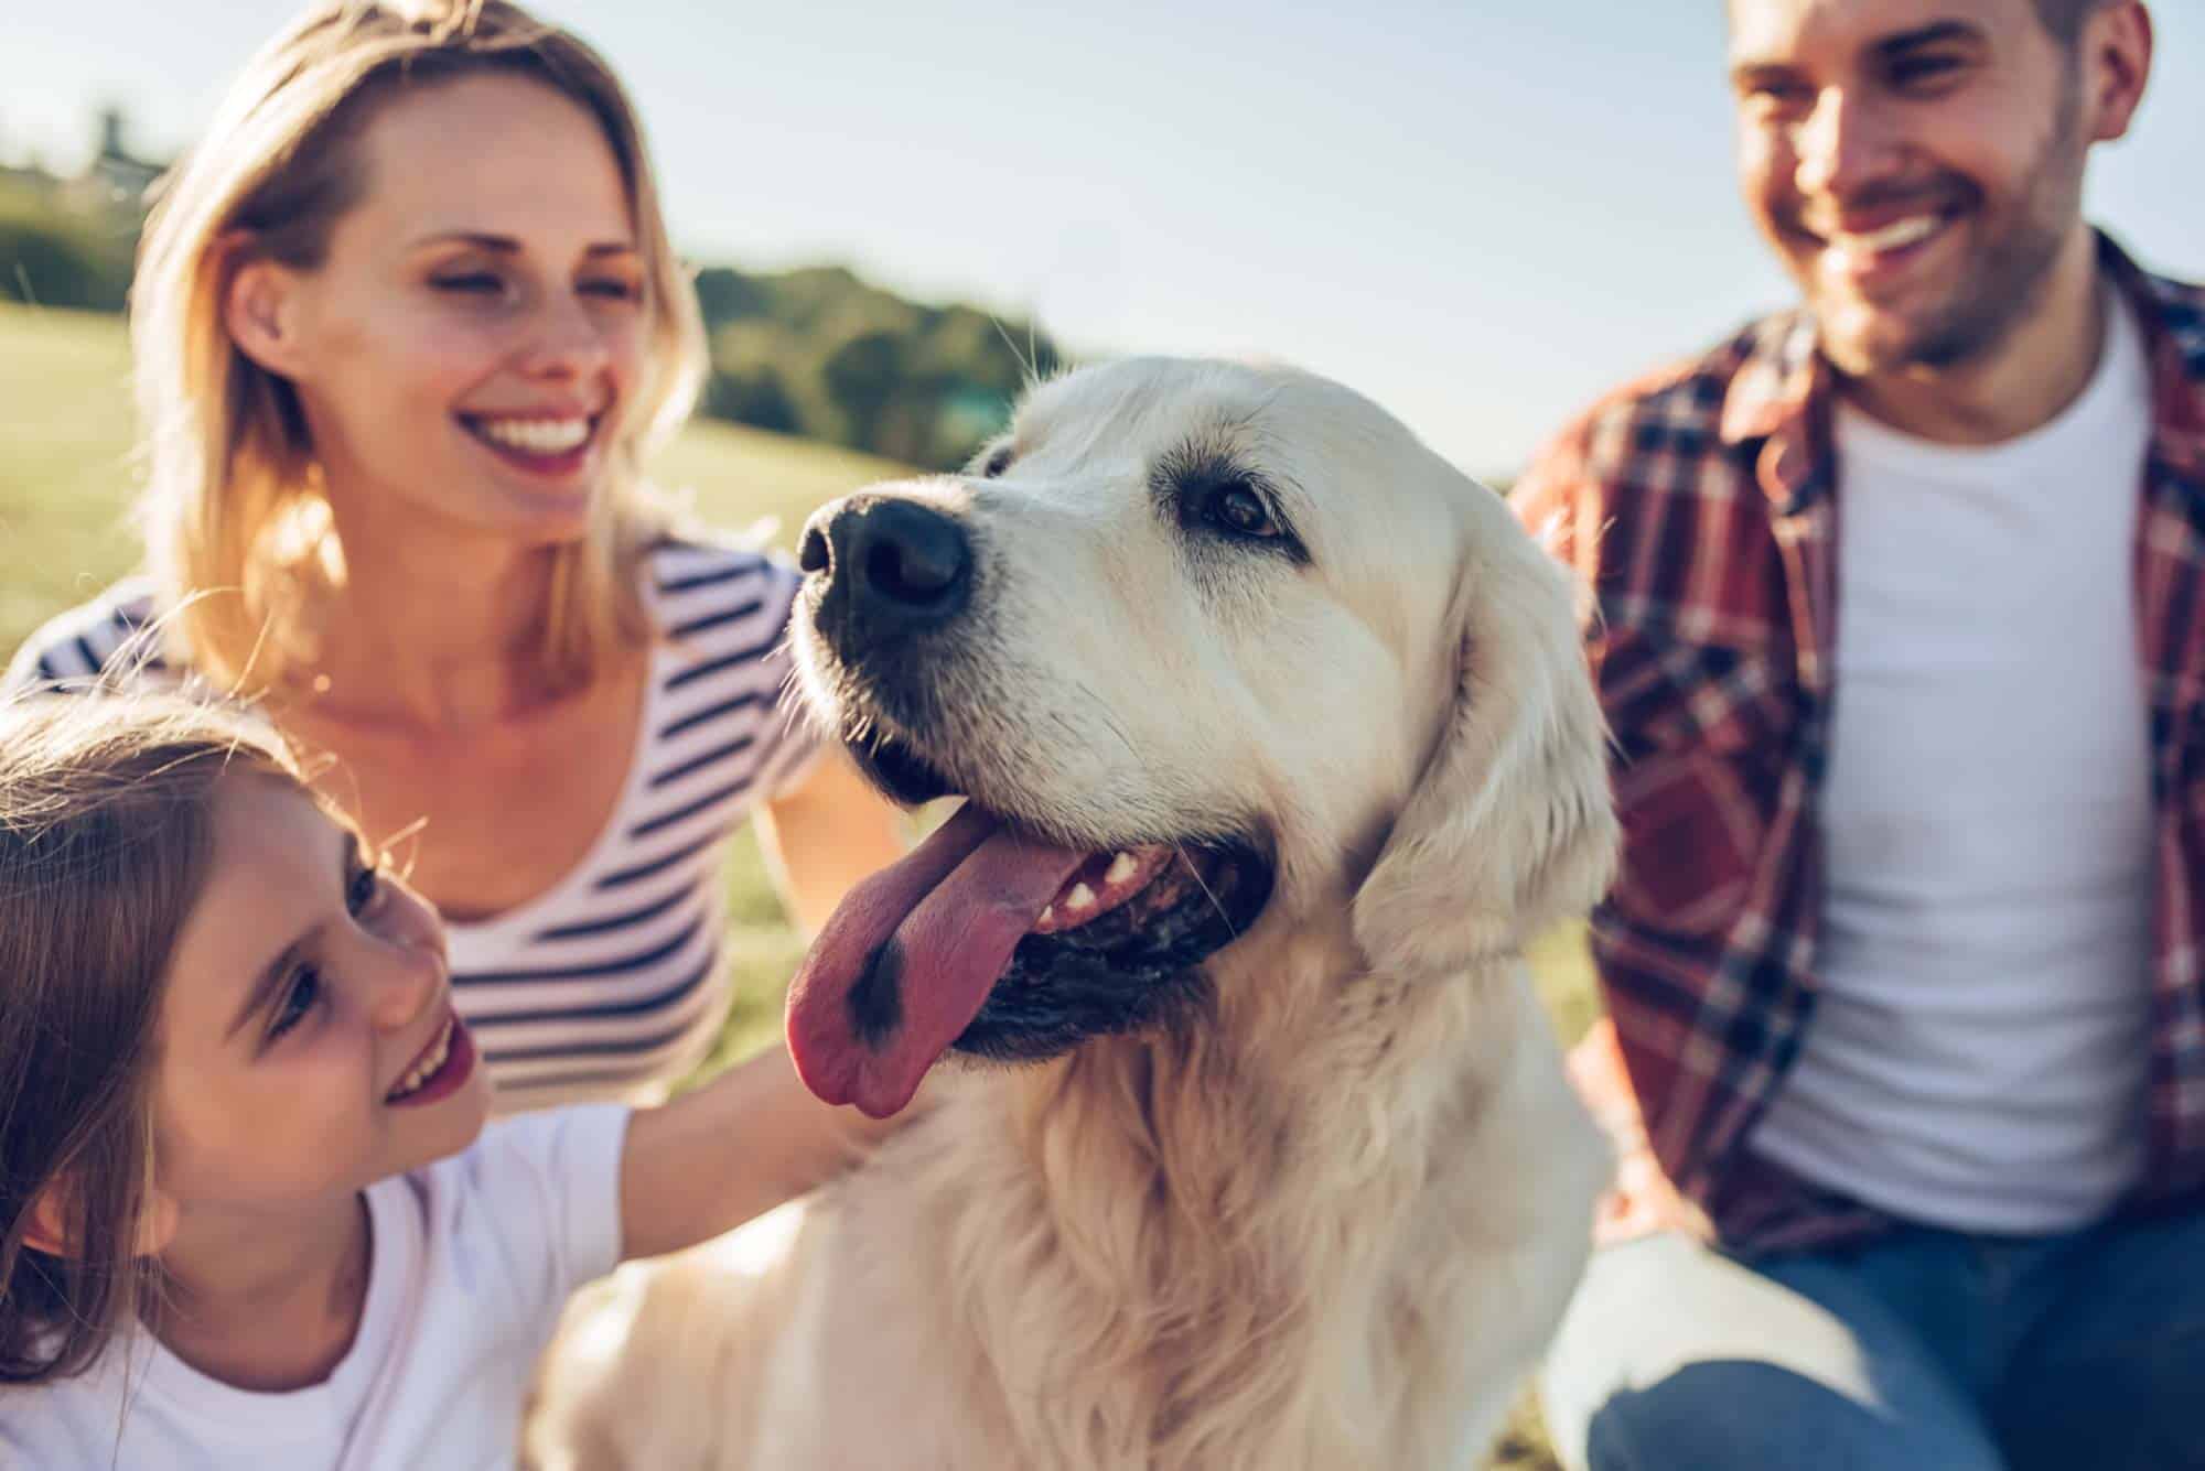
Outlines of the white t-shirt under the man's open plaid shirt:
M 2150 370 L 2106 348 L 1989 447 L 1837 416 L 1837 698 L 1813 1022 L 1749 1147 L 1905 1220 L 2048 1233 L 2143 1169 Z

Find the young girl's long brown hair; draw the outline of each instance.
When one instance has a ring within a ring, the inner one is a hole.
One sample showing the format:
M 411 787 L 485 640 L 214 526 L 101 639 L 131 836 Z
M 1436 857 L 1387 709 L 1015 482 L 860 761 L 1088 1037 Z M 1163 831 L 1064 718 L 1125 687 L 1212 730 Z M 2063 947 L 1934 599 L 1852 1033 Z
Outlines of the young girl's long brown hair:
M 306 791 L 234 711 L 161 694 L 0 705 L 0 1385 L 82 1372 L 148 1306 L 161 995 L 229 773 Z M 29 1244 L 46 1191 L 62 1255 Z

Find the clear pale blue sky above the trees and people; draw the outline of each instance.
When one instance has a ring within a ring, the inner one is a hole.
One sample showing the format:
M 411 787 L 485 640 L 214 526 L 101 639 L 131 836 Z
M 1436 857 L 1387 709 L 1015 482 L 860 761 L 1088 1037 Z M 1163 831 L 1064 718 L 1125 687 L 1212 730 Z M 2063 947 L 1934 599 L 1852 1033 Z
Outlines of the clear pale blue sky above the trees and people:
M 79 163 L 108 99 L 174 150 L 293 9 L 7 4 L 0 156 Z M 1790 295 L 1731 183 L 1720 0 L 540 11 L 628 79 L 695 260 L 840 260 L 1080 355 L 1283 357 L 1473 471 Z M 2205 277 L 2205 0 L 2152 13 L 2152 92 L 2090 209 Z

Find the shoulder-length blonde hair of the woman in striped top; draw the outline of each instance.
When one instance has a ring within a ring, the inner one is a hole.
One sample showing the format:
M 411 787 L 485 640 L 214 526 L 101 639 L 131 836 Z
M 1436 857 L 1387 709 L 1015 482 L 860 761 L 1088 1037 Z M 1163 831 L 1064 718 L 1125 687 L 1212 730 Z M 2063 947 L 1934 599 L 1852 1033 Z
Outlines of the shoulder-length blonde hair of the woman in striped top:
M 650 372 L 606 445 L 589 531 L 553 553 L 540 674 L 587 683 L 646 636 L 635 564 L 662 520 L 642 462 L 688 416 L 706 355 L 626 90 L 578 37 L 505 0 L 324 0 L 262 46 L 163 181 L 130 288 L 150 570 L 176 608 L 174 654 L 216 687 L 282 676 L 311 647 L 309 595 L 342 577 L 298 394 L 229 339 L 229 282 L 254 258 L 320 266 L 366 189 L 357 143 L 377 108 L 481 73 L 536 79 L 598 119 L 648 273 Z M 212 590 L 225 595 L 192 597 Z

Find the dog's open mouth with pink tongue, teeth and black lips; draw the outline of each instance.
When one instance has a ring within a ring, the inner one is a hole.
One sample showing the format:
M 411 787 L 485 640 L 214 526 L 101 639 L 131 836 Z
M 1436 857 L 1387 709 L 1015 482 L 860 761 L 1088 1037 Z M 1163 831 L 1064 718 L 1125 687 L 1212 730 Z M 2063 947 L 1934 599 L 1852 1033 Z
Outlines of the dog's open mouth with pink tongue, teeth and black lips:
M 906 802 L 953 791 L 908 747 L 858 755 Z M 827 920 L 789 987 L 789 1053 L 811 1092 L 878 1119 L 944 1050 L 1039 1059 L 1149 1026 L 1200 993 L 1270 885 L 1244 839 L 1065 848 L 966 802 Z

